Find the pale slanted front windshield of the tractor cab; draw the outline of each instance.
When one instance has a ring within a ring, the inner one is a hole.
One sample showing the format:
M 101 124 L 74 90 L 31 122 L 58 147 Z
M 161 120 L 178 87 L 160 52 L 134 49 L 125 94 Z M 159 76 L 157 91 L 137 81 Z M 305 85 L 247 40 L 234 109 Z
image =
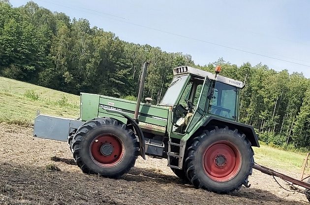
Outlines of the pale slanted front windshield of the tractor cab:
M 160 104 L 174 105 L 187 77 L 188 75 L 174 77 Z

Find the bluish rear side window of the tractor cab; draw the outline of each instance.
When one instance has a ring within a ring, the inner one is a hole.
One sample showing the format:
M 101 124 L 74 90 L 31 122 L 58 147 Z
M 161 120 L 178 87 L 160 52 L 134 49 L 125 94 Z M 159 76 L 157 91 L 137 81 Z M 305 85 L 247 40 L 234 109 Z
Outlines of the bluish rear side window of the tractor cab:
M 229 119 L 236 119 L 237 88 L 215 82 L 214 94 L 208 112 Z

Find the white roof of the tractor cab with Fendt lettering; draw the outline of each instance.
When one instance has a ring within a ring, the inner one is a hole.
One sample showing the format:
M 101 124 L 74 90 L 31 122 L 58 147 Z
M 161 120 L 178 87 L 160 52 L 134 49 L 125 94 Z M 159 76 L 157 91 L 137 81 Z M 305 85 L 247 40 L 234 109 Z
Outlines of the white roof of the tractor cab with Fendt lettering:
M 193 74 L 193 75 L 198 75 L 198 76 L 201 76 L 201 77 L 204 77 L 204 78 L 206 76 L 208 76 L 208 78 L 211 79 L 211 80 L 216 80 L 218 82 L 222 82 L 222 83 L 225 83 L 225 84 L 228 84 L 228 85 L 232 85 L 232 86 L 235 86 L 235 87 L 238 87 L 238 88 L 243 88 L 243 82 L 241 82 L 239 80 L 234 80 L 234 79 L 231 79 L 231 78 L 228 78 L 228 77 L 224 77 L 224 76 L 221 76 L 221 75 L 217 75 L 217 78 L 215 78 L 215 74 L 213 74 L 211 72 L 204 71 L 204 70 L 200 70 L 200 69 L 197 69 L 197 68 L 192 68 L 192 67 L 189 67 L 189 66 L 180 66 L 180 67 L 177 67 L 177 68 L 173 69 L 173 75 L 181 75 L 181 74 L 186 74 L 186 73 L 190 73 L 190 74 Z

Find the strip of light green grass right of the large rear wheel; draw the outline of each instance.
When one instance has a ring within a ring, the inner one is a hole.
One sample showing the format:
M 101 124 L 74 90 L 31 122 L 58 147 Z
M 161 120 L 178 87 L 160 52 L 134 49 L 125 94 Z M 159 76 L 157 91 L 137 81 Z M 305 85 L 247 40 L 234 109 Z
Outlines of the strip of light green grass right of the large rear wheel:
M 253 147 L 255 162 L 273 169 L 300 172 L 307 153 L 289 152 L 267 145 Z

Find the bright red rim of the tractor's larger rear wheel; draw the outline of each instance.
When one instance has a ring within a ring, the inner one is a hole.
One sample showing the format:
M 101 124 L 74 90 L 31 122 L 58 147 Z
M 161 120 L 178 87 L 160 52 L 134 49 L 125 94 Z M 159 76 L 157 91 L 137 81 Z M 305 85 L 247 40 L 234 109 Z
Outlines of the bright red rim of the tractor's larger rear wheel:
M 238 148 L 230 141 L 211 144 L 203 155 L 206 174 L 213 180 L 224 182 L 234 178 L 242 164 Z

